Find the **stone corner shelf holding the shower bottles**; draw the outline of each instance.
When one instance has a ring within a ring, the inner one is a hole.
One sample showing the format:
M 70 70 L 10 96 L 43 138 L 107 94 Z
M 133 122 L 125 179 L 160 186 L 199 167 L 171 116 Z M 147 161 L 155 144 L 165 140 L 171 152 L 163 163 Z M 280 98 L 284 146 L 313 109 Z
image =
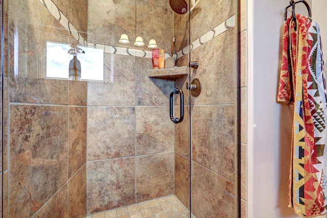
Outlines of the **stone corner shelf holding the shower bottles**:
M 160 78 L 160 79 L 168 78 L 169 80 L 175 80 L 188 75 L 188 73 L 189 73 L 189 69 L 187 66 L 164 68 L 164 69 L 149 69 L 148 77 Z

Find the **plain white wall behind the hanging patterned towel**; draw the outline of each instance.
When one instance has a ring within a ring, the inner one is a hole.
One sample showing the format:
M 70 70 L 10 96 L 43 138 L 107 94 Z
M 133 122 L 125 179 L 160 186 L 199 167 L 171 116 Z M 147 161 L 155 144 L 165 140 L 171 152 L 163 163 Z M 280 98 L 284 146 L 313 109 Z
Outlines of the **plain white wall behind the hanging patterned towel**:
M 288 208 L 293 108 L 276 103 L 288 4 L 248 0 L 248 218 L 299 217 Z

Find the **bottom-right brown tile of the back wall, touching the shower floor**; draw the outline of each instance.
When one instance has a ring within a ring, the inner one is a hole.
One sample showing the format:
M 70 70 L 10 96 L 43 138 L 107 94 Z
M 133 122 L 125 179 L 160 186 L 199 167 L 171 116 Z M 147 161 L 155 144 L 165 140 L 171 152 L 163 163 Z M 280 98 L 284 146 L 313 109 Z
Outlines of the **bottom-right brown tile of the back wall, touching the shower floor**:
M 136 157 L 136 202 L 173 193 L 173 155 L 174 153 L 169 152 Z

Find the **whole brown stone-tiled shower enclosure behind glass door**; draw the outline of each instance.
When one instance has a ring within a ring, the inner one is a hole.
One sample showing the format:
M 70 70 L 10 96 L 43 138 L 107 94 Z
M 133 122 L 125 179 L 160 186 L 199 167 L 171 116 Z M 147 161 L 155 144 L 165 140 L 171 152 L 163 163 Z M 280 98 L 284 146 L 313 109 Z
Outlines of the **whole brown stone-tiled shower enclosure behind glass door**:
M 3 217 L 86 217 L 166 196 L 185 212 L 150 205 L 149 217 L 238 217 L 238 2 L 193 6 L 2 1 Z M 151 39 L 175 67 L 152 70 Z

